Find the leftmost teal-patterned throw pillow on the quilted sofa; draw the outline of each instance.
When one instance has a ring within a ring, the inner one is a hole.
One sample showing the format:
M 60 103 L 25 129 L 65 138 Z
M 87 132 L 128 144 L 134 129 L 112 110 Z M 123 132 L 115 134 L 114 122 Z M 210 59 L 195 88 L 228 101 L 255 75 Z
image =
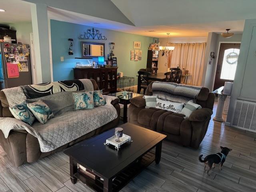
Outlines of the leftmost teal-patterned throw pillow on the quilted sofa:
M 29 125 L 32 125 L 32 123 L 36 119 L 32 114 L 32 112 L 28 109 L 26 103 L 9 107 L 9 109 L 12 115 L 14 116 L 14 118 L 21 120 Z

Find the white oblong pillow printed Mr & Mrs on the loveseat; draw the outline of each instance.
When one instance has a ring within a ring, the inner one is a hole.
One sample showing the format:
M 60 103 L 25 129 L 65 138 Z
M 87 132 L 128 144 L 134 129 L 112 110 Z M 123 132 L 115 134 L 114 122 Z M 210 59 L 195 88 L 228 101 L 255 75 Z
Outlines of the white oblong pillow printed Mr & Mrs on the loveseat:
M 163 109 L 163 110 L 172 111 L 175 113 L 180 113 L 183 106 L 184 106 L 184 103 L 164 101 L 164 100 L 161 100 L 158 98 L 156 99 L 156 108 L 157 109 Z

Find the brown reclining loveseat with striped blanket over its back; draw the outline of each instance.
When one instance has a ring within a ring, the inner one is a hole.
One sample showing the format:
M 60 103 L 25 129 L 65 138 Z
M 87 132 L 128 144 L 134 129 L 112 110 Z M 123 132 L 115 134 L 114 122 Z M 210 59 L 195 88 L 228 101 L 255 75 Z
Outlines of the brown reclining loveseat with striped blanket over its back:
M 152 83 L 148 85 L 145 95 L 153 95 Z M 128 109 L 128 122 L 155 130 L 167 135 L 167 139 L 183 146 L 198 148 L 202 142 L 212 115 L 215 95 L 208 88 L 202 88 L 196 103 L 202 106 L 184 119 L 183 114 L 145 108 L 146 102 L 142 96 L 132 98 Z

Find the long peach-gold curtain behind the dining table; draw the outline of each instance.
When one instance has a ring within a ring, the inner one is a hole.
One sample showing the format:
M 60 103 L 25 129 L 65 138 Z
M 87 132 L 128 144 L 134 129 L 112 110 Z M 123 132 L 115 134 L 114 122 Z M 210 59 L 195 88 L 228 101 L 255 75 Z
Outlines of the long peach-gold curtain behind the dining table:
M 188 77 L 187 84 L 200 86 L 202 82 L 206 42 L 204 43 L 171 43 L 174 46 L 168 57 L 168 68 L 188 70 L 192 76 Z

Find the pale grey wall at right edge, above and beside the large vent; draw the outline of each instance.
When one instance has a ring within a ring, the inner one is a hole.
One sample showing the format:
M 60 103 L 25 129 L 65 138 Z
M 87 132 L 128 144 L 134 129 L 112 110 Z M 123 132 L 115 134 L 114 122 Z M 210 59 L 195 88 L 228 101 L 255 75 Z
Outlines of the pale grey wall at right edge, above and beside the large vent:
M 245 21 L 236 75 L 230 96 L 226 122 L 230 123 L 236 99 L 256 102 L 256 19 Z

